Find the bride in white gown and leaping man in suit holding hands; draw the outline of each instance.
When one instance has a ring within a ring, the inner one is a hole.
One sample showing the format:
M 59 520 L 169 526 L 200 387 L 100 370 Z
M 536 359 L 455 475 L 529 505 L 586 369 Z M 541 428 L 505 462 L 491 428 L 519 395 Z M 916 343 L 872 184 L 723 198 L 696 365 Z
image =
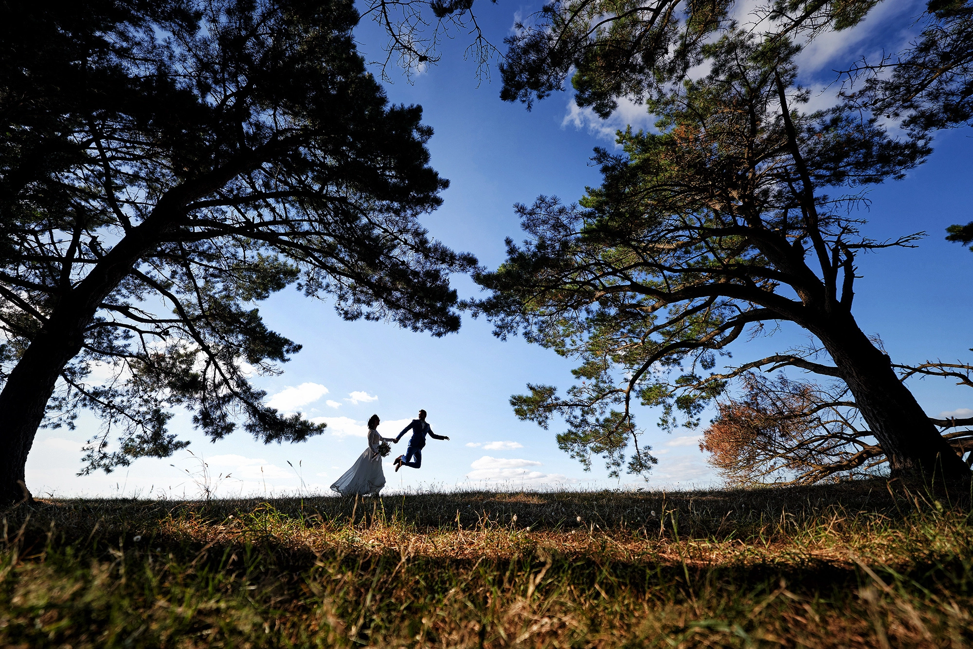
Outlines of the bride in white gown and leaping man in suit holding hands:
M 418 469 L 422 466 L 422 447 L 425 446 L 425 439 L 428 435 L 432 439 L 450 439 L 445 435 L 436 435 L 426 423 L 426 411 L 419 410 L 419 418 L 414 419 L 408 426 L 402 429 L 402 433 L 394 438 L 383 438 L 378 435 L 378 424 L 381 422 L 378 415 L 372 415 L 368 420 L 368 448 L 358 456 L 358 459 L 350 469 L 344 472 L 342 477 L 335 480 L 331 485 L 333 491 L 337 491 L 342 496 L 352 496 L 355 494 L 378 495 L 381 487 L 385 486 L 385 473 L 381 470 L 381 458 L 388 455 L 391 446 L 387 442 L 397 443 L 409 431 L 413 432 L 413 437 L 409 439 L 409 448 L 406 454 L 395 458 L 395 470 L 402 467 L 412 467 Z

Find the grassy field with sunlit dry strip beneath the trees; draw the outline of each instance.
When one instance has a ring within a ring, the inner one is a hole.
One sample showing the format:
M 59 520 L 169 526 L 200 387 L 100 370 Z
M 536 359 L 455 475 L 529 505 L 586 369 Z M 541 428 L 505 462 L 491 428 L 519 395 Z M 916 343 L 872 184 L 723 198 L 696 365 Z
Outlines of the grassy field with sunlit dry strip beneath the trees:
M 50 500 L 5 514 L 14 647 L 964 647 L 969 494 Z

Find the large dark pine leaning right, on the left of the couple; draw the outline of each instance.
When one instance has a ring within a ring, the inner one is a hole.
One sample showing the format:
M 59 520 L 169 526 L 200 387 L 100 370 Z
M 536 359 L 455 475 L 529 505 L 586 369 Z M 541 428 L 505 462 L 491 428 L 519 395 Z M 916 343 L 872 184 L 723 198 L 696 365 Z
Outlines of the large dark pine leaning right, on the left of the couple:
M 421 109 L 366 72 L 351 2 L 3 6 L 4 498 L 37 426 L 79 406 L 105 422 L 86 471 L 184 445 L 173 405 L 212 439 L 320 433 L 250 382 L 300 349 L 256 307 L 285 286 L 348 320 L 457 329 L 449 273 L 476 260 L 417 221 L 448 181 Z

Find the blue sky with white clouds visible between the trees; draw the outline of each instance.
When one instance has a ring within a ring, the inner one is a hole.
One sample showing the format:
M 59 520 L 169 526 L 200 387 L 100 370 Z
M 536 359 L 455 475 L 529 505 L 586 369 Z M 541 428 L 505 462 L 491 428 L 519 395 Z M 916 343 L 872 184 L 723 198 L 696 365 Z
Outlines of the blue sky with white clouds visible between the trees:
M 826 105 L 829 91 L 817 92 L 834 79 L 833 69 L 883 46 L 905 43 L 910 16 L 922 3 L 883 3 L 870 19 L 849 32 L 827 35 L 802 55 L 803 83 L 815 89 L 812 102 Z M 488 38 L 501 44 L 515 13 L 537 7 L 478 4 L 478 18 Z M 382 58 L 381 33 L 364 21 L 356 32 L 369 59 Z M 423 222 L 451 248 L 469 250 L 495 267 L 503 258 L 505 237 L 522 237 L 512 210 L 516 202 L 538 194 L 577 200 L 586 185 L 598 182 L 589 163 L 594 146 L 613 145 L 616 128 L 628 123 L 648 127 L 652 120 L 640 106 L 624 105 L 608 122 L 579 110 L 569 93 L 557 94 L 527 112 L 520 104 L 500 101 L 499 75 L 478 83 L 476 65 L 464 60 L 466 36 L 455 34 L 439 64 L 414 75 L 410 83 L 389 68 L 389 98 L 418 103 L 424 121 L 435 129 L 429 143 L 432 165 L 450 178 L 440 210 Z M 494 59 L 495 60 L 495 59 Z M 378 70 L 377 70 L 378 71 Z M 906 179 L 872 191 L 864 232 L 876 239 L 924 230 L 919 248 L 892 249 L 862 257 L 855 316 L 868 333 L 881 336 L 898 363 L 927 359 L 970 360 L 973 307 L 969 279 L 973 252 L 944 241 L 953 223 L 973 220 L 968 193 L 973 132 L 938 134 L 935 153 Z M 456 277 L 462 296 L 477 293 L 468 278 Z M 98 432 L 97 421 L 83 414 L 78 430 L 40 431 L 27 462 L 27 481 L 35 495 L 196 496 L 204 483 L 218 495 L 326 492 L 365 446 L 364 422 L 378 413 L 379 431 L 397 434 L 418 408 L 429 412 L 435 432 L 450 441 L 430 440 L 422 469 L 393 473 L 390 460 L 405 451 L 403 439 L 386 458 L 386 491 L 500 485 L 505 488 L 601 488 L 646 485 L 652 488 L 716 484 L 699 450 L 699 431 L 667 435 L 655 427 L 651 412 L 638 413 L 645 438 L 659 457 L 647 483 L 640 477 L 610 479 L 595 463 L 585 473 L 560 451 L 557 424 L 544 431 L 519 421 L 508 399 L 524 384 L 540 382 L 566 388 L 569 361 L 521 339 L 501 342 L 483 321 L 464 319 L 458 334 L 435 339 L 382 323 L 345 323 L 327 302 L 310 300 L 288 289 L 260 305 L 272 328 L 304 345 L 277 377 L 258 378 L 271 403 L 285 411 L 323 417 L 329 431 L 302 444 L 264 445 L 236 433 L 210 443 L 195 432 L 190 417 L 178 412 L 172 429 L 193 443 L 193 454 L 141 459 L 106 476 L 76 477 L 81 443 Z M 800 344 L 804 335 L 783 327 L 772 338 L 741 342 L 734 362 L 745 362 Z M 910 387 L 930 415 L 973 408 L 973 391 L 942 380 L 912 381 Z M 970 411 L 973 414 L 973 410 Z M 969 416 L 969 415 L 967 415 Z M 201 471 L 205 461 L 208 477 Z M 290 462 L 290 466 L 288 465 Z M 227 475 L 231 477 L 227 478 Z

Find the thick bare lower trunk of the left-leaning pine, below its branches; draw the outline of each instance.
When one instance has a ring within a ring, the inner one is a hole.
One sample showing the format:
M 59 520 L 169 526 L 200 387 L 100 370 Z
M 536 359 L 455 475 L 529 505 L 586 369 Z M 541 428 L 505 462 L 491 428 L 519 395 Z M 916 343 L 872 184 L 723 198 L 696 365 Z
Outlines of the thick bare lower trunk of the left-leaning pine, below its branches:
M 851 314 L 829 316 L 826 324 L 808 328 L 841 370 L 858 410 L 882 445 L 892 476 L 970 477 L 965 463 L 899 380 L 891 360 L 872 344 Z

